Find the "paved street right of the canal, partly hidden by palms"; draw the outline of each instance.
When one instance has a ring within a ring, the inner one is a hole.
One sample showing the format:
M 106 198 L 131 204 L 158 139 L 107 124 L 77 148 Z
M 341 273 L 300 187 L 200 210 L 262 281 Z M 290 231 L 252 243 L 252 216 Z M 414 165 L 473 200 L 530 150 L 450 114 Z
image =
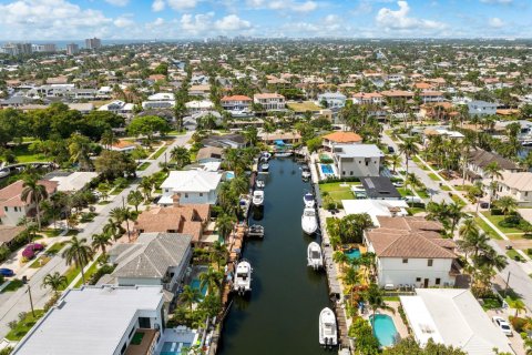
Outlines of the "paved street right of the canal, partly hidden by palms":
M 399 152 L 397 144 L 385 133 L 382 133 L 382 142 L 393 146 L 396 152 Z M 402 158 L 405 159 L 405 156 Z M 402 162 L 401 165 L 403 169 L 406 169 L 405 162 Z M 427 172 L 418 168 L 415 162 L 409 161 L 408 169 L 409 172 L 413 172 L 428 189 L 433 191 L 432 200 L 434 202 L 452 202 L 452 199 L 449 197 L 449 194 L 440 189 L 439 183 L 430 179 Z M 474 211 L 475 206 L 470 204 L 464 210 Z M 499 254 L 507 254 L 505 251 L 494 240 L 490 240 L 489 243 Z M 521 263 L 509 258 L 507 268 L 498 273 L 495 282 L 504 287 L 509 273 L 509 287 L 523 297 L 523 302 L 526 304 L 526 307 L 532 311 L 532 278 L 530 278 L 530 276 L 523 270 Z

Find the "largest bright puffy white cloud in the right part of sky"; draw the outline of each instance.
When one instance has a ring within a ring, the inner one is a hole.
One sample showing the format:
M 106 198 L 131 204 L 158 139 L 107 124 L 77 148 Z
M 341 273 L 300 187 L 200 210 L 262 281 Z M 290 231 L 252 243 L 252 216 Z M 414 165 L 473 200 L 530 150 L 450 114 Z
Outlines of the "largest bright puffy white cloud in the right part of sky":
M 409 18 L 410 7 L 407 1 L 397 1 L 398 10 L 382 8 L 377 13 L 377 23 L 386 30 L 441 30 L 446 24 L 432 20 Z

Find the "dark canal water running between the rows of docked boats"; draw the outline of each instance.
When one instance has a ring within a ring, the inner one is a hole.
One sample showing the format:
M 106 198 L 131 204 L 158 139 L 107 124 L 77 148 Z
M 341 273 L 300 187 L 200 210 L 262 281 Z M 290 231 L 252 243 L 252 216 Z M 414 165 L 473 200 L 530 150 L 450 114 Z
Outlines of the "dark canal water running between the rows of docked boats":
M 307 267 L 306 257 L 318 236 L 306 236 L 300 223 L 303 195 L 311 187 L 291 159 L 273 159 L 269 165 L 264 210 L 249 220 L 266 234 L 248 240 L 243 255 L 254 271 L 252 294 L 234 298 L 218 354 L 330 354 L 318 342 L 319 312 L 330 306 L 326 274 Z

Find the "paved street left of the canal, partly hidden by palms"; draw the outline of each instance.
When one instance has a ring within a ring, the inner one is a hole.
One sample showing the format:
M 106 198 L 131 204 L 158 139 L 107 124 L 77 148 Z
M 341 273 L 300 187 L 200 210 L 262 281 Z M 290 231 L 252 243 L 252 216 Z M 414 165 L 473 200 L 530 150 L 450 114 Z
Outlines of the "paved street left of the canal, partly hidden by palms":
M 166 153 L 170 154 L 172 148 L 177 145 L 185 145 L 186 142 L 190 140 L 192 133 L 187 133 L 186 135 L 180 135 L 175 139 L 175 141 L 166 149 Z M 137 173 L 139 178 L 151 175 L 161 170 L 158 163 L 164 162 L 165 154 L 161 154 L 155 160 L 152 160 L 152 164 L 144 171 L 140 171 Z M 170 156 L 168 156 L 170 159 Z M 102 231 L 103 225 L 106 223 L 109 219 L 109 212 L 114 207 L 122 206 L 122 197 L 126 199 L 130 191 L 135 190 L 139 187 L 139 184 L 132 184 L 127 189 L 124 189 L 119 195 L 114 196 L 114 199 L 106 204 L 100 214 L 92 221 L 88 223 L 82 232 L 80 232 L 79 237 L 85 237 L 88 242 L 91 241 L 93 234 L 100 233 Z M 52 257 L 52 260 L 41 267 L 37 273 L 34 273 L 30 281 L 29 285 L 31 287 L 31 295 L 33 298 L 34 308 L 42 308 L 44 304 L 50 298 L 51 294 L 47 288 L 41 287 L 42 280 L 49 273 L 59 272 L 63 274 L 68 270 L 64 260 L 58 254 L 58 256 Z M 21 277 L 22 275 L 19 275 Z M 16 292 L 0 294 L 0 339 L 9 333 L 8 324 L 11 321 L 17 321 L 18 315 L 21 312 L 30 312 L 30 298 L 28 295 L 27 287 L 22 287 L 17 290 Z

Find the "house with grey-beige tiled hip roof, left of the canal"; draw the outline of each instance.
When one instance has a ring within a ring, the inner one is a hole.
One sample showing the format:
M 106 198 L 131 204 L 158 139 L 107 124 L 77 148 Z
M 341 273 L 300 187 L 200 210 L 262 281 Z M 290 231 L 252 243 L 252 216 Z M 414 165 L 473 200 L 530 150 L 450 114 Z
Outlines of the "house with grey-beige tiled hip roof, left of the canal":
M 102 283 L 119 286 L 160 285 L 175 293 L 192 257 L 192 236 L 142 233 L 134 243 L 116 244 L 109 262 L 116 265 Z

